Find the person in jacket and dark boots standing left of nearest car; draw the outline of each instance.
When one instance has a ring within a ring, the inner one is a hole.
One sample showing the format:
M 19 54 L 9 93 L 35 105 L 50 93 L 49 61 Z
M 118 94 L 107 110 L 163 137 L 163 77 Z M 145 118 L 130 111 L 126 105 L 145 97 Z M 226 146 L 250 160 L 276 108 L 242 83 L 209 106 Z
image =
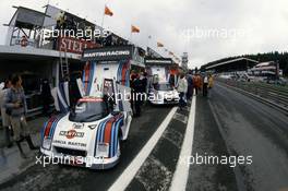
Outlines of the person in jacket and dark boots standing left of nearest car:
M 7 114 L 10 116 L 10 121 L 12 124 L 12 129 L 14 132 L 14 140 L 19 147 L 21 157 L 26 158 L 24 154 L 21 142 L 26 140 L 31 150 L 38 150 L 38 147 L 34 146 L 28 126 L 26 122 L 26 112 L 27 105 L 25 99 L 24 89 L 22 87 L 22 79 L 20 75 L 13 75 L 11 80 L 12 86 L 8 89 L 4 96 L 4 107 L 7 109 Z

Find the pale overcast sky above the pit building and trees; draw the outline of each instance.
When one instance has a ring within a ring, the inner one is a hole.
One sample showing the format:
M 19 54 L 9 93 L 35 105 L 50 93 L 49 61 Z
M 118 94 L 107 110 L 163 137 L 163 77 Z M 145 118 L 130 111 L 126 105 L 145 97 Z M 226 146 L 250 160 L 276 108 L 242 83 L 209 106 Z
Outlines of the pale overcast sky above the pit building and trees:
M 22 5 L 44 11 L 48 0 L 1 0 L 0 44 L 15 9 Z M 287 0 L 50 0 L 50 4 L 100 25 L 107 4 L 113 16 L 104 27 L 145 48 L 168 57 L 160 41 L 180 57 L 189 55 L 189 67 L 245 53 L 287 51 Z M 131 24 L 140 28 L 131 35 Z M 152 36 L 149 39 L 148 36 Z

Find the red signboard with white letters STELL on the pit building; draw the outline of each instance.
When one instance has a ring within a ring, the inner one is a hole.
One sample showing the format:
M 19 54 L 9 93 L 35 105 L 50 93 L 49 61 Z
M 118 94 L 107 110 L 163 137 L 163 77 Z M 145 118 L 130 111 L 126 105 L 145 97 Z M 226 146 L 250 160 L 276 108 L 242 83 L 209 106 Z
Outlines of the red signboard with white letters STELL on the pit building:
M 71 53 L 83 53 L 86 48 L 99 47 L 98 44 L 72 37 L 59 37 L 58 50 Z

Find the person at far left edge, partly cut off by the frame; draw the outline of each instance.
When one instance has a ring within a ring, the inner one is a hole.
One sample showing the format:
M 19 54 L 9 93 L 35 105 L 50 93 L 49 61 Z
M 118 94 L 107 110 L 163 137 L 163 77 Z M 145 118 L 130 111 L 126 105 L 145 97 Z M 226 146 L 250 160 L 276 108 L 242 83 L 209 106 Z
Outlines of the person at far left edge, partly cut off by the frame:
M 11 142 L 11 122 L 10 117 L 7 114 L 7 109 L 4 107 L 4 97 L 9 88 L 11 87 L 10 77 L 5 81 L 3 89 L 0 89 L 0 107 L 1 107 L 1 117 L 2 117 L 2 126 L 4 129 L 4 140 L 7 147 L 11 147 L 13 144 Z

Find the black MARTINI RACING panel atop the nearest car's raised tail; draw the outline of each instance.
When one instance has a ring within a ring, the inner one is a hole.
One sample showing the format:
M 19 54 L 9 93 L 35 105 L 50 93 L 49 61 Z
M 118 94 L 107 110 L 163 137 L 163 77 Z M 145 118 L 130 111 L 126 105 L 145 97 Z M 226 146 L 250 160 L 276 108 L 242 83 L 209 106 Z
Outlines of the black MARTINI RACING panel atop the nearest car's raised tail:
M 85 49 L 83 51 L 83 61 L 116 61 L 116 60 L 129 60 L 132 59 L 133 47 L 132 46 L 113 46 L 113 47 L 100 47 L 94 49 Z

